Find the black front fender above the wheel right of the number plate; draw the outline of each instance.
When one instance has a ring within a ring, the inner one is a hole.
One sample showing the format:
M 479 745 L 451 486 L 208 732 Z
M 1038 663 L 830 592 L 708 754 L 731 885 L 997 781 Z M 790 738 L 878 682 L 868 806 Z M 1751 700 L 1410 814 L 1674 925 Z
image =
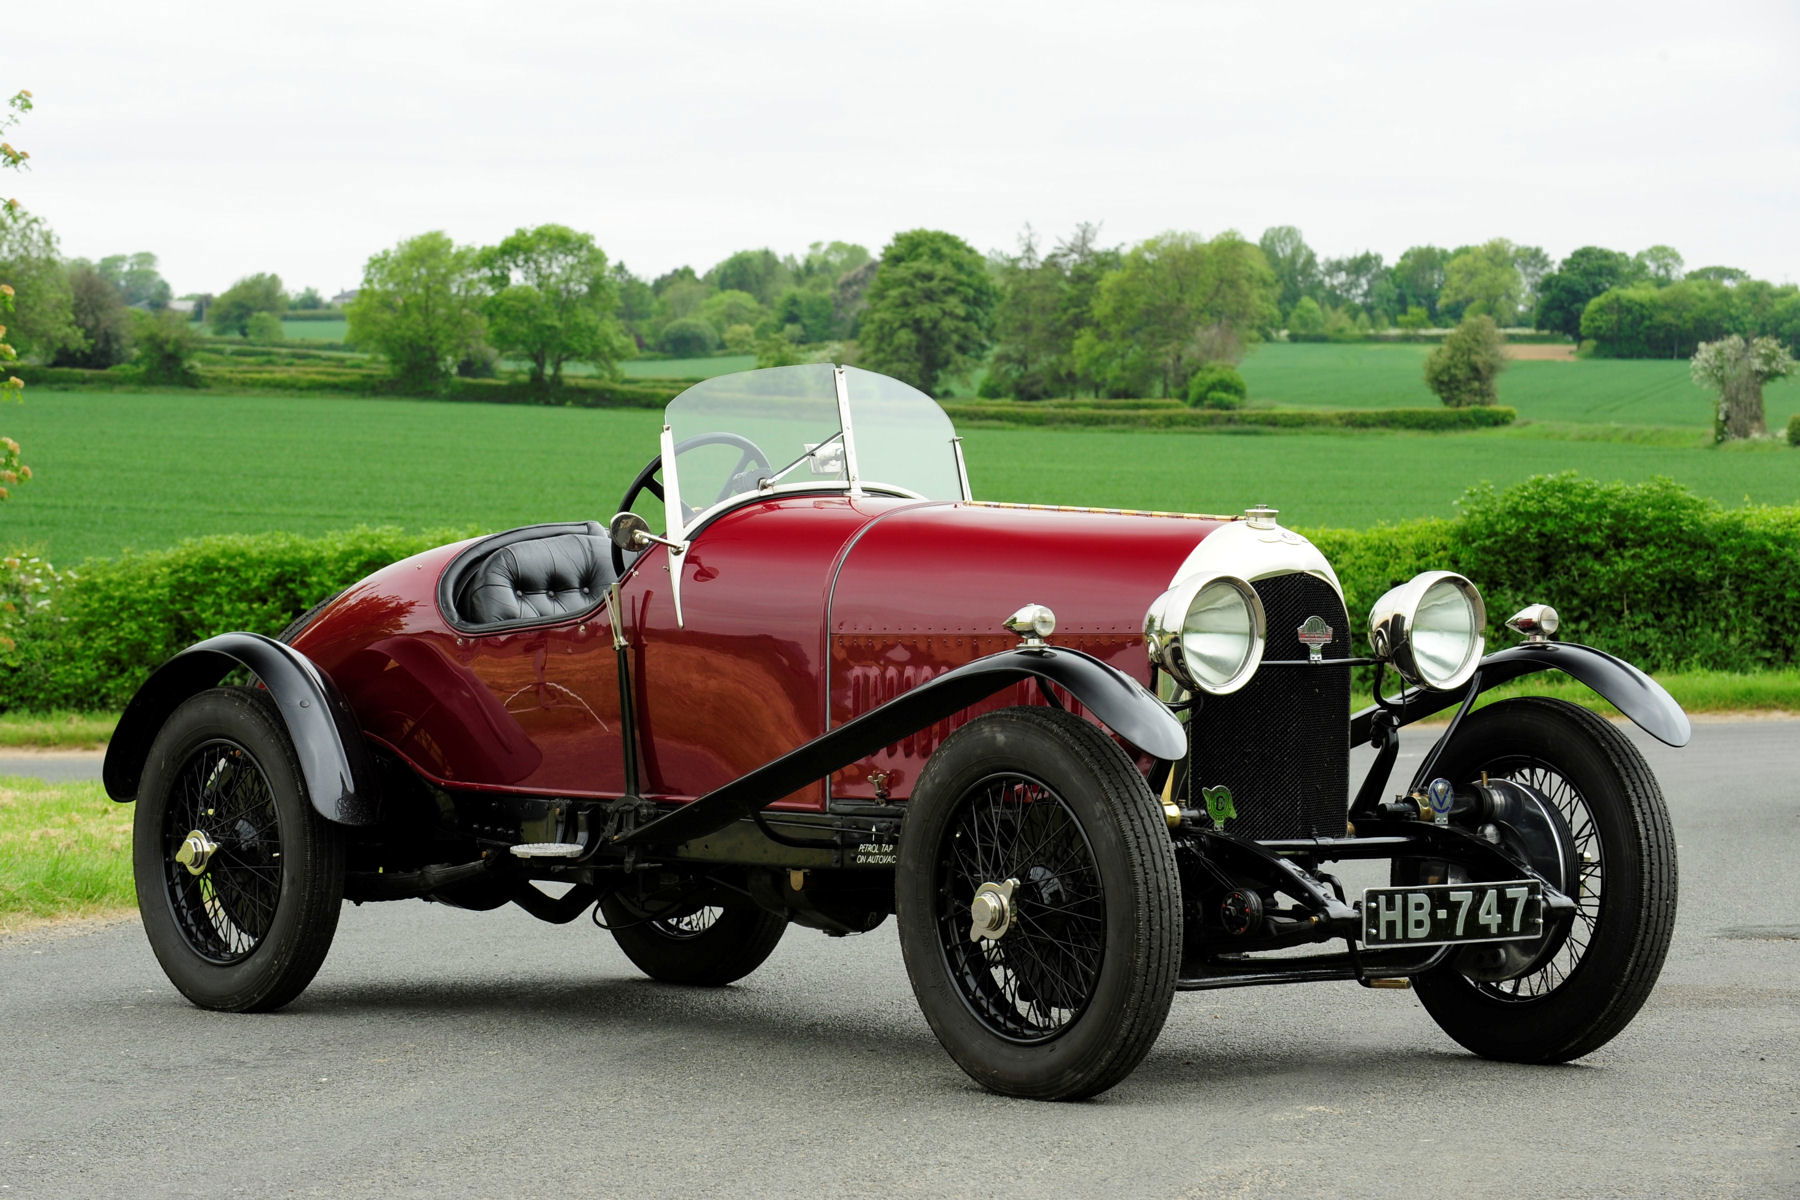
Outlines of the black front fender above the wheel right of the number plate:
M 1600 693 L 1607 703 L 1629 716 L 1638 729 L 1670 747 L 1685 747 L 1694 736 L 1687 712 L 1661 684 L 1604 649 L 1580 642 L 1525 642 L 1496 651 L 1481 660 L 1476 676 L 1478 691 L 1516 680 L 1535 671 L 1562 671 Z M 1409 725 L 1433 712 L 1458 705 L 1465 691 L 1422 691 L 1404 702 L 1391 703 L 1400 725 Z M 1373 729 L 1379 709 L 1363 709 L 1350 718 L 1350 745 L 1363 745 Z

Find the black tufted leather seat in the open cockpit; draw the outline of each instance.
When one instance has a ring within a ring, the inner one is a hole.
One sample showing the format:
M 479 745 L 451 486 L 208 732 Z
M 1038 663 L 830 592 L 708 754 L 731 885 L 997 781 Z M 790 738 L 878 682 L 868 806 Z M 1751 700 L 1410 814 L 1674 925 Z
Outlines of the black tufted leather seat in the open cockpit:
M 457 581 L 457 615 L 502 624 L 589 612 L 612 585 L 610 547 L 605 536 L 562 533 L 490 551 Z

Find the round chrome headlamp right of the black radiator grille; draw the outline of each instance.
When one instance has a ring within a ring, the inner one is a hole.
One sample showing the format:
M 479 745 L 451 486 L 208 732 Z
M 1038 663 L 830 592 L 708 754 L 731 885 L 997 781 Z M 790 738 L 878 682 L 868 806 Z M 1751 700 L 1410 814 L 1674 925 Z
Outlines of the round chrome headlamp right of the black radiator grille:
M 1368 644 L 1409 684 L 1462 687 L 1487 648 L 1487 604 L 1451 570 L 1427 570 L 1390 590 L 1368 613 Z

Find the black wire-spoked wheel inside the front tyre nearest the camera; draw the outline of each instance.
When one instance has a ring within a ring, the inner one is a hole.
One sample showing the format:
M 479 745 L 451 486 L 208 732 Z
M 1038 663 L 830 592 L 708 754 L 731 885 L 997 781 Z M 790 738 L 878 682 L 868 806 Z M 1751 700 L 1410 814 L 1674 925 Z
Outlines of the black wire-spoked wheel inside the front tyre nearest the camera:
M 976 891 L 1017 880 L 1010 927 L 970 939 Z M 963 1002 L 994 1034 L 1042 1042 L 1067 1029 L 1100 982 L 1105 894 L 1067 802 L 1022 774 L 977 783 L 938 860 L 938 939 Z

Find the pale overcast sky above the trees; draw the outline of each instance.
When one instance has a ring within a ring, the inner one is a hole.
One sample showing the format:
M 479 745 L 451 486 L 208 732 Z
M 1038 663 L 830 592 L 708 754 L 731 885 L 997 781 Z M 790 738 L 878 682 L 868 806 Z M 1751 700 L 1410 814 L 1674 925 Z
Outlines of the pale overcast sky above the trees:
M 749 246 L 1031 223 L 1298 225 L 1321 255 L 1510 237 L 1800 281 L 1800 4 L 20 0 L 0 180 L 182 291 L 355 286 L 430 228 Z

